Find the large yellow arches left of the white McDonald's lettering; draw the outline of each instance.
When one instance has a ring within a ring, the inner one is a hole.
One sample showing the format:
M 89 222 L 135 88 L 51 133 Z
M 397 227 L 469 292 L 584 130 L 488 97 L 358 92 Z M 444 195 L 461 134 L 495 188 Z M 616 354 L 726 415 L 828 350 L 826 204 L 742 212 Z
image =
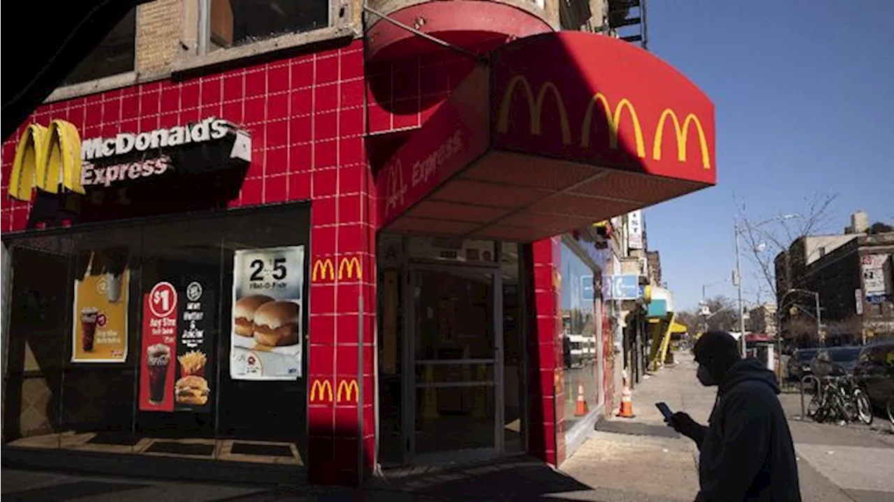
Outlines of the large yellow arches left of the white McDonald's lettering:
M 59 187 L 84 194 L 80 183 L 80 134 L 71 122 L 55 120 L 49 127 L 31 124 L 16 147 L 9 195 L 30 201 L 31 190 L 51 194 Z

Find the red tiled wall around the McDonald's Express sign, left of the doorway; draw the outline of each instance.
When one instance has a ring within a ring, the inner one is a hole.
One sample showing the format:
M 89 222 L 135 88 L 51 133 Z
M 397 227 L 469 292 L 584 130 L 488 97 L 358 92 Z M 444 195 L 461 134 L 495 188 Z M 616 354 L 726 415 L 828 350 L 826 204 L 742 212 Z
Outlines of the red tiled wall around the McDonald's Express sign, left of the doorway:
M 363 438 L 357 401 L 308 405 L 309 477 L 357 480 L 358 443 L 374 460 L 375 190 L 366 131 L 363 45 L 174 82 L 165 80 L 44 105 L 0 146 L 4 196 L 21 131 L 32 121 L 71 121 L 81 138 L 173 127 L 208 116 L 252 136 L 252 163 L 232 207 L 311 199 L 310 258 L 356 256 L 362 276 L 310 286 L 308 384 L 357 379 L 359 327 L 364 335 Z M 30 205 L 0 197 L 0 232 L 23 230 Z M 363 298 L 362 310 L 358 298 Z M 296 406 L 299 406 L 296 403 Z M 301 427 L 301 424 L 296 424 Z

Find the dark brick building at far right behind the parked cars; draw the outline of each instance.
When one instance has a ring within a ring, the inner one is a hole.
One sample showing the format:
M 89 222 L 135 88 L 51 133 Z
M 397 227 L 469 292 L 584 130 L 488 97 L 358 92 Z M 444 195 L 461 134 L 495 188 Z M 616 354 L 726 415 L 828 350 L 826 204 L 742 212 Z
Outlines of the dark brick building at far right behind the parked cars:
M 869 225 L 863 212 L 852 215 L 845 231 L 798 238 L 777 255 L 783 337 L 839 344 L 894 336 L 894 231 Z

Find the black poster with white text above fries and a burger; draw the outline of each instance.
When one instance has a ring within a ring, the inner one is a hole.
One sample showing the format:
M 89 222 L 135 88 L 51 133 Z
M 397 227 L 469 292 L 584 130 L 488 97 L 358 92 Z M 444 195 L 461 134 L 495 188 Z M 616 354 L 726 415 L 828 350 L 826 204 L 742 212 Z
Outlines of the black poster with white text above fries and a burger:
M 214 381 L 215 308 L 217 302 L 211 280 L 185 276 L 177 318 L 177 381 L 174 383 L 174 410 L 209 412 Z

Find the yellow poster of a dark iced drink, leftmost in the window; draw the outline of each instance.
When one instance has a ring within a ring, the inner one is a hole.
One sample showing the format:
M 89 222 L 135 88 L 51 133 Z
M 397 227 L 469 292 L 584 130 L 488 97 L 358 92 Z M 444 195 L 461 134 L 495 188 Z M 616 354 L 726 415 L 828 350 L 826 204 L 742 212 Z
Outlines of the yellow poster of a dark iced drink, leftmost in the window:
M 72 363 L 127 360 L 130 271 L 127 255 L 88 252 L 79 256 L 74 280 Z

